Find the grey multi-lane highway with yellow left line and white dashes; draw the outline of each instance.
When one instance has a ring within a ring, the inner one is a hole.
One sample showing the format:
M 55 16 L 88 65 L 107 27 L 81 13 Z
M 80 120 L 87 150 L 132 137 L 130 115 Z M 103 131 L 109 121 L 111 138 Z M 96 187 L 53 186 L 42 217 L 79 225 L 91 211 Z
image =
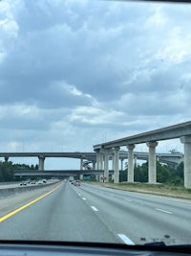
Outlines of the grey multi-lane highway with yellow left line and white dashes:
M 191 244 L 190 211 L 186 199 L 61 182 L 1 198 L 0 239 Z

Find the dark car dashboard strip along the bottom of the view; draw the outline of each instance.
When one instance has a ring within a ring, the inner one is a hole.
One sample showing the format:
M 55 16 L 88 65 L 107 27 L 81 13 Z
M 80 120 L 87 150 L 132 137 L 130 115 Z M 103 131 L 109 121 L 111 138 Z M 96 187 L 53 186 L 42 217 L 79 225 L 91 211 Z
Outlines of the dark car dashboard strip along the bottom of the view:
M 127 256 L 177 256 L 190 255 L 190 246 L 150 246 L 126 244 L 95 243 L 50 243 L 50 242 L 1 242 L 0 255 L 37 256 L 37 255 L 127 255 Z

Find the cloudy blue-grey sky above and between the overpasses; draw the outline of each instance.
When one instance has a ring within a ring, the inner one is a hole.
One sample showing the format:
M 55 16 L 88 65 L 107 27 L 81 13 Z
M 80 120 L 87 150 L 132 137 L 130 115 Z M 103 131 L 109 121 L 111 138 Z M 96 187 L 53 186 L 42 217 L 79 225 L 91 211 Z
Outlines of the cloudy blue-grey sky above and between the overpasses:
M 185 4 L 1 0 L 0 151 L 93 151 L 190 121 L 190 17 Z

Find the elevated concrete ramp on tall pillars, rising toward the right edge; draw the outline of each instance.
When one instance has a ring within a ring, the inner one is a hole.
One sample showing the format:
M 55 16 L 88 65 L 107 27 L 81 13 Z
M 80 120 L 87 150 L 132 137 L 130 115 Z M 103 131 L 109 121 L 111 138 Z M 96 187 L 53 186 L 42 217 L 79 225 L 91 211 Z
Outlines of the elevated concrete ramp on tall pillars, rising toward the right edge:
M 109 181 L 109 157 L 114 153 L 114 172 L 115 182 L 119 180 L 119 150 L 120 147 L 126 146 L 128 149 L 128 182 L 134 182 L 134 149 L 137 144 L 146 143 L 149 149 L 148 161 L 148 176 L 149 183 L 157 182 L 156 170 L 156 147 L 158 142 L 180 138 L 180 142 L 184 145 L 184 186 L 191 188 L 191 121 L 180 123 L 175 126 L 166 128 L 154 129 L 151 131 L 139 133 L 137 135 L 120 138 L 117 140 L 97 144 L 94 146 L 96 151 L 96 169 L 104 169 L 106 181 Z M 104 159 L 104 164 L 103 164 Z M 104 166 L 103 166 L 104 165 Z

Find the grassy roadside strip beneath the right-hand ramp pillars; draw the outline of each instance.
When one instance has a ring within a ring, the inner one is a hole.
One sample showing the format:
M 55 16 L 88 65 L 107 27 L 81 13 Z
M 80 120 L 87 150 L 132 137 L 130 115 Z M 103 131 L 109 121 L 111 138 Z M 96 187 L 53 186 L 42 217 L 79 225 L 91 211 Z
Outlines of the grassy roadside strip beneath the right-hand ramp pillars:
M 139 193 L 148 193 L 154 195 L 168 196 L 174 198 L 191 199 L 191 189 L 185 189 L 183 186 L 174 186 L 170 184 L 148 184 L 148 183 L 102 183 L 89 182 L 92 184 L 101 185 L 107 188 L 113 188 L 124 191 L 133 191 Z

